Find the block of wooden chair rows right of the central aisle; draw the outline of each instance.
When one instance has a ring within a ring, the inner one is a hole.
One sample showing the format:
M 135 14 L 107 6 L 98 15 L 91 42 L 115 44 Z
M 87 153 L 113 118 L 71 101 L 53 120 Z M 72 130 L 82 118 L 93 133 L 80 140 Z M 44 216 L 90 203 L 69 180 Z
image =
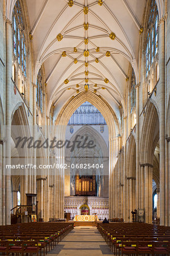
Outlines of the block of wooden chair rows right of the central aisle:
M 97 224 L 114 254 L 170 255 L 170 228 L 139 223 Z M 143 251 L 143 253 L 142 253 Z M 144 252 L 145 251 L 145 252 Z

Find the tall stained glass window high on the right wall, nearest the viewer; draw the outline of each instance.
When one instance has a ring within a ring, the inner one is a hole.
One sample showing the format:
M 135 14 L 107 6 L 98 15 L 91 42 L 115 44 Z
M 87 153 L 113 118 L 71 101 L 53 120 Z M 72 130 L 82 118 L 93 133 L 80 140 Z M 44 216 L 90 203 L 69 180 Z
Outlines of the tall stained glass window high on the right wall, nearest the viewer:
M 150 5 L 150 14 L 147 23 L 146 39 L 146 77 L 148 76 L 151 66 L 154 63 L 158 53 L 158 8 L 156 1 L 152 0 Z

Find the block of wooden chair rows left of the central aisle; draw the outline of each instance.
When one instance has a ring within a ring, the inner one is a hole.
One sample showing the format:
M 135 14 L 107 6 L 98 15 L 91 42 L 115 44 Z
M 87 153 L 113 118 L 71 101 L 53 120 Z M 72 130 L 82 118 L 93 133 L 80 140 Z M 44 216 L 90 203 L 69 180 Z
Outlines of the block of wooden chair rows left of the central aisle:
M 0 226 L 0 252 L 12 255 L 36 253 L 44 256 L 72 229 L 68 222 L 36 222 Z

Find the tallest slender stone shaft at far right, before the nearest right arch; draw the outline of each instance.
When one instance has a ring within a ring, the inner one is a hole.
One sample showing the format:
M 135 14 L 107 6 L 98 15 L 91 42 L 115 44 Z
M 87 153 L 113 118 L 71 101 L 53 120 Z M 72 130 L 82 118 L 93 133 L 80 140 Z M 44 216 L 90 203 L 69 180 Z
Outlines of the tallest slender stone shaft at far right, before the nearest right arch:
M 160 225 L 165 225 L 165 22 L 159 22 Z

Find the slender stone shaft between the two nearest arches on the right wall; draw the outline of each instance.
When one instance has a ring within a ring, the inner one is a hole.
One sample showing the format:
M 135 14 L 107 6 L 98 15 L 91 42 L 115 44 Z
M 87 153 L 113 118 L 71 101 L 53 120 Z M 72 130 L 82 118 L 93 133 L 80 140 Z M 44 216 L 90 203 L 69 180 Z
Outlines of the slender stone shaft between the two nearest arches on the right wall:
M 135 192 L 135 209 L 139 208 L 139 86 L 140 83 L 135 86 L 136 89 L 136 192 Z

